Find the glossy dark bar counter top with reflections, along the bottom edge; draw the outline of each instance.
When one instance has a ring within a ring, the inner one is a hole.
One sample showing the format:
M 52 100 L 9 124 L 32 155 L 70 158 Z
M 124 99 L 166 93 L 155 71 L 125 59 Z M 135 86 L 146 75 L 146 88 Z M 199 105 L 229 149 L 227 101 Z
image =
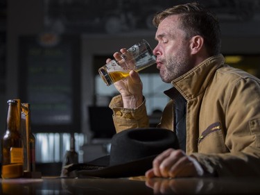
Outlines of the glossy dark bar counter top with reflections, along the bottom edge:
M 260 194 L 260 178 L 0 179 L 0 194 Z

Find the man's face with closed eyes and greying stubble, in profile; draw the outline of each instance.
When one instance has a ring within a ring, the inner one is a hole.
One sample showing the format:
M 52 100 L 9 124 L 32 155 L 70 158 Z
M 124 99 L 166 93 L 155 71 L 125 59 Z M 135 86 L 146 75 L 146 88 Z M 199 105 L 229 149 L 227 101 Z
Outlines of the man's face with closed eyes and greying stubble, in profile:
M 153 53 L 157 56 L 157 69 L 165 83 L 171 83 L 193 68 L 190 43 L 185 37 L 186 33 L 179 28 L 178 17 L 166 17 L 155 34 L 158 44 Z

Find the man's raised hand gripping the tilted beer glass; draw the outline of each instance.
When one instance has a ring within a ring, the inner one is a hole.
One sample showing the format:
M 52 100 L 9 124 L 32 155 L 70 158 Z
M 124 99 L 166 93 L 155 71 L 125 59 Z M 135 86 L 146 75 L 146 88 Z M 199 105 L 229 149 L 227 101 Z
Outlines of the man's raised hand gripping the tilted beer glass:
M 126 49 L 120 50 L 121 53 L 125 53 L 125 51 Z M 121 53 L 114 53 L 114 58 L 122 60 Z M 106 62 L 110 60 L 107 59 Z M 127 78 L 114 83 L 114 86 L 122 96 L 124 108 L 137 108 L 143 102 L 143 83 L 141 83 L 139 74 L 136 71 L 130 71 L 129 75 Z

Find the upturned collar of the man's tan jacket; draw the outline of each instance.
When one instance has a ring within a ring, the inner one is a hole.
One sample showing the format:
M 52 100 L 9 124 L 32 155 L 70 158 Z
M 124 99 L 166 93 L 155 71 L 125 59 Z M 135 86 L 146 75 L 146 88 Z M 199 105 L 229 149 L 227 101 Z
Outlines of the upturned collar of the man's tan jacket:
M 216 69 L 223 67 L 224 62 L 225 58 L 222 54 L 207 58 L 186 74 L 173 80 L 171 83 L 174 87 L 170 90 L 166 90 L 164 93 L 173 99 L 174 88 L 176 88 L 186 100 L 195 98 L 205 91 Z

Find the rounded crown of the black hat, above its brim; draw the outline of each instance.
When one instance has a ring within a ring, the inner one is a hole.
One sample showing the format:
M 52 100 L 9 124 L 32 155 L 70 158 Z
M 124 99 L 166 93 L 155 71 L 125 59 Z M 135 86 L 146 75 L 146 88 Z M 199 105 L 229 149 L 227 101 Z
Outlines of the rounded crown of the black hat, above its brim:
M 166 149 L 179 149 L 177 137 L 165 128 L 134 128 L 112 137 L 110 166 L 158 155 Z

